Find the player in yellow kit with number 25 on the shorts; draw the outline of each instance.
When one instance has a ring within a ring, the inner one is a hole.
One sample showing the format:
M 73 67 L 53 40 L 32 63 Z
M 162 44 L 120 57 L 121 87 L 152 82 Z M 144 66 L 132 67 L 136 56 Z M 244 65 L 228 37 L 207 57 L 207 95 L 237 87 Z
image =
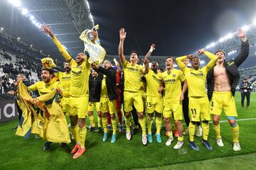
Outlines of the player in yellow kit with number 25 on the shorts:
M 146 111 L 148 114 L 148 142 L 153 142 L 151 127 L 153 123 L 153 115 L 156 114 L 156 141 L 161 143 L 161 123 L 163 113 L 163 98 L 159 91 L 162 83 L 161 73 L 157 72 L 158 62 L 151 62 L 151 69 L 146 74 Z

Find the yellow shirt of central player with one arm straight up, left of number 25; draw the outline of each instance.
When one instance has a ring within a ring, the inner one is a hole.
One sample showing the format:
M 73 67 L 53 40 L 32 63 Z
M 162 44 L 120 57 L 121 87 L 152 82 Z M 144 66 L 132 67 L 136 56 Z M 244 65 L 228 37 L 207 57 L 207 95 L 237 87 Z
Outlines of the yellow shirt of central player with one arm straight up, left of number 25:
M 124 91 L 139 92 L 143 66 L 139 64 L 132 66 L 127 61 L 122 63 L 122 66 L 124 68 Z

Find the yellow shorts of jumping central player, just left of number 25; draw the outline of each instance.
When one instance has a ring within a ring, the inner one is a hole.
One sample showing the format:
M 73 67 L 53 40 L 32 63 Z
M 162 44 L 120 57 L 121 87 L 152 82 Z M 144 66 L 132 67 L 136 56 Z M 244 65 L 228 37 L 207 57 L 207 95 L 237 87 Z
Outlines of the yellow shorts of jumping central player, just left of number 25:
M 132 91 L 124 91 L 124 111 L 130 112 L 132 111 L 132 104 L 136 108 L 137 112 L 144 111 L 144 104 L 142 101 L 142 94 L 138 92 Z

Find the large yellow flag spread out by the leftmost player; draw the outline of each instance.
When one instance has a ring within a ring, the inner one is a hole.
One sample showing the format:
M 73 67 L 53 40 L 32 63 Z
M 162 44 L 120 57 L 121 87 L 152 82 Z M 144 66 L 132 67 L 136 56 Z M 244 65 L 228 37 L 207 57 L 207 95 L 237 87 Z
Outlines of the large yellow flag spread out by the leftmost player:
M 51 98 L 57 98 L 55 89 L 49 94 L 32 98 L 21 81 L 17 93 L 21 101 L 18 104 L 23 114 L 16 135 L 27 138 L 30 133 L 35 133 L 48 142 L 70 143 L 68 123 L 59 103 L 55 99 L 50 105 L 46 106 L 44 103 Z

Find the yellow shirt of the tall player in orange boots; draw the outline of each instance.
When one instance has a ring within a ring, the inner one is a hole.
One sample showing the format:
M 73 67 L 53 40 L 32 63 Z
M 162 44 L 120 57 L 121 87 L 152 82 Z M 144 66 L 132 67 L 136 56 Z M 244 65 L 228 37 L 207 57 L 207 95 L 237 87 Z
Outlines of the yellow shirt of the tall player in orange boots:
M 85 57 L 86 58 L 86 57 Z M 71 60 L 70 96 L 84 97 L 89 95 L 90 66 L 87 61 L 78 65 L 75 60 Z

